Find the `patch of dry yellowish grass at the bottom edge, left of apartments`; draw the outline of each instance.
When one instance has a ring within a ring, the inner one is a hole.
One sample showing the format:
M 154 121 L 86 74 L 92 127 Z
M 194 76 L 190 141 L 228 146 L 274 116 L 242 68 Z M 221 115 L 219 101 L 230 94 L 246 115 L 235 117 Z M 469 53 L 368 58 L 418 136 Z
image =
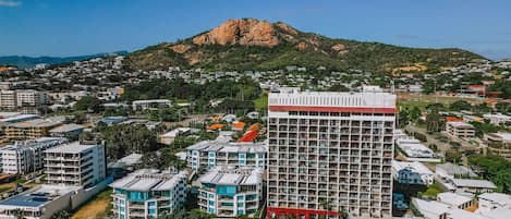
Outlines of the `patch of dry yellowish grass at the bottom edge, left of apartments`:
M 106 190 L 99 193 L 95 198 L 87 202 L 78 210 L 76 210 L 72 219 L 96 219 L 104 218 L 111 209 L 112 204 L 110 195 L 112 190 Z

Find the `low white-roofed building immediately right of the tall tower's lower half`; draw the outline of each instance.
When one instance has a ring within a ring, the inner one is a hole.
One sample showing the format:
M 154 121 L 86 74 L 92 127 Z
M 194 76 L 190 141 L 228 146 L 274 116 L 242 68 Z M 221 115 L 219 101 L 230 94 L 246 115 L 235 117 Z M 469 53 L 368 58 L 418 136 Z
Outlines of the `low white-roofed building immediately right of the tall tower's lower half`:
M 392 160 L 392 169 L 399 183 L 431 185 L 434 173 L 421 162 L 400 162 Z

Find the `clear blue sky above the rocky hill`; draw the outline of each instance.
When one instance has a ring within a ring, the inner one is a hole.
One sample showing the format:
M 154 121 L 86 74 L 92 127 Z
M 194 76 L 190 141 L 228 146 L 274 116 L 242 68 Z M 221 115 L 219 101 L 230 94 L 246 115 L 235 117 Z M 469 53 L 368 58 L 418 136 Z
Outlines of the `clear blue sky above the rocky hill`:
M 333 38 L 501 59 L 511 58 L 510 9 L 509 0 L 0 0 L 0 56 L 133 51 L 255 17 Z

